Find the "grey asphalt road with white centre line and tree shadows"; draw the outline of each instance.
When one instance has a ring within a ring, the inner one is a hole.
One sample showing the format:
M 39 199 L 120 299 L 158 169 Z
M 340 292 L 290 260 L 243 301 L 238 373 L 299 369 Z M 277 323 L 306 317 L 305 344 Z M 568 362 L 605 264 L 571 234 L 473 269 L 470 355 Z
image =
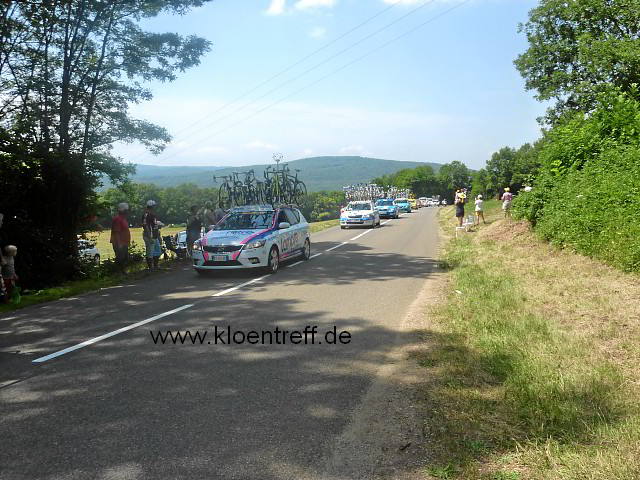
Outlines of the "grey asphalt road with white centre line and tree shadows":
M 397 326 L 435 271 L 435 212 L 317 233 L 321 255 L 276 275 L 201 278 L 185 265 L 0 316 L 0 478 L 329 478 L 376 371 L 410 341 Z M 213 335 L 314 325 L 314 345 Z M 348 344 L 327 344 L 334 326 Z M 154 344 L 150 331 L 167 330 L 208 336 Z

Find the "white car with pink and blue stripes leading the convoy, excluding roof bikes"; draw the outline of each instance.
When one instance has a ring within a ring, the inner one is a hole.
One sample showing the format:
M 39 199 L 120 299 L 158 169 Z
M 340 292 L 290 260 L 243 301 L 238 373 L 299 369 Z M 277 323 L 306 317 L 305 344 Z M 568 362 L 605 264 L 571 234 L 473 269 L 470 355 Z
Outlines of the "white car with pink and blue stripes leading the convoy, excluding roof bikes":
M 266 268 L 276 273 L 280 262 L 311 256 L 311 229 L 300 210 L 251 205 L 233 208 L 193 244 L 191 259 L 198 274 L 211 270 Z

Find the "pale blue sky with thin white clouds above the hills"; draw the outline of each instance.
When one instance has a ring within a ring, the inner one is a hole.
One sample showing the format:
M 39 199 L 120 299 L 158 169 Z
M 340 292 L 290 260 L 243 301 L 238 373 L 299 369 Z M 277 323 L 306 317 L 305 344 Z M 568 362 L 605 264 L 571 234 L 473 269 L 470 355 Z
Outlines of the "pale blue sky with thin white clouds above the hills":
M 518 22 L 537 2 L 468 0 L 447 12 L 461 1 L 217 0 L 146 20 L 146 29 L 203 36 L 213 47 L 131 108 L 166 127 L 172 145 L 155 157 L 135 144 L 114 153 L 154 165 L 269 163 L 280 152 L 480 168 L 499 148 L 540 136 L 545 105 L 513 66 L 527 48 Z

